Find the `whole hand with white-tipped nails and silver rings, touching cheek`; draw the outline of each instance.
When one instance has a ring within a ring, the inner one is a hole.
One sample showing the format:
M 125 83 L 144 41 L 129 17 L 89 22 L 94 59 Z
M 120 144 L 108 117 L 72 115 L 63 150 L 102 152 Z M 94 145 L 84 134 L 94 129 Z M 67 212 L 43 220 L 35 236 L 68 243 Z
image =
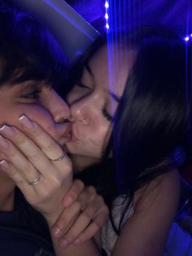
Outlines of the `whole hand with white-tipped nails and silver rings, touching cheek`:
M 0 151 L 5 156 L 0 165 L 52 227 L 72 184 L 72 163 L 41 126 L 27 117 L 21 122 L 26 133 L 13 126 L 0 129 Z

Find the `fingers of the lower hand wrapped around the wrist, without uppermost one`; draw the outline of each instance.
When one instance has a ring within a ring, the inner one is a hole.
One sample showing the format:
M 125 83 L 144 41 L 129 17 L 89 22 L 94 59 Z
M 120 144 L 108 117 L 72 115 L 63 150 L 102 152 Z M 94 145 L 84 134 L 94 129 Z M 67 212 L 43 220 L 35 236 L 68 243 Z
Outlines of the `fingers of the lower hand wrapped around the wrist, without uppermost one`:
M 52 232 L 55 237 L 60 237 L 59 244 L 64 248 L 73 241 L 81 244 L 98 232 L 107 216 L 103 197 L 98 196 L 93 187 L 85 187 L 76 201 L 59 216 Z

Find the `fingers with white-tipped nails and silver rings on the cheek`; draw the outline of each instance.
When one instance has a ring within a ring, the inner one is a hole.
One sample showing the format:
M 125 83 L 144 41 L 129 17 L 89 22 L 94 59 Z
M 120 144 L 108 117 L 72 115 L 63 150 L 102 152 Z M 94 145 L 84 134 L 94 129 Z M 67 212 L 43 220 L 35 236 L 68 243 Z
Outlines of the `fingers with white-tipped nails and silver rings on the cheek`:
M 24 117 L 20 120 L 24 123 L 24 129 L 28 130 L 28 135 L 25 135 L 24 132 L 12 126 L 2 126 L 0 133 L 7 137 L 7 139 L 10 139 L 11 142 L 20 149 L 20 152 L 27 157 L 28 161 L 30 161 L 37 170 L 41 170 L 42 175 L 51 179 L 52 173 L 47 170 L 50 170 L 53 165 L 58 167 L 55 171 L 62 177 L 63 174 L 71 172 L 72 163 L 68 156 L 65 156 L 65 153 L 59 144 L 56 143 L 55 140 L 41 128 L 41 126 L 38 126 L 35 122 L 29 120 L 28 117 Z M 50 148 L 52 150 L 51 152 Z M 20 155 L 19 151 L 15 151 L 16 161 L 14 162 L 14 158 L 11 157 L 11 152 L 9 152 L 9 150 L 6 151 L 6 148 L 3 147 L 1 147 L 1 149 L 2 151 L 4 150 L 4 153 L 6 152 L 6 156 L 11 159 L 13 165 L 16 164 L 16 166 L 20 170 L 24 170 L 24 172 L 28 170 L 28 166 L 25 166 L 26 161 L 18 161 L 18 156 Z M 51 159 L 56 157 L 57 161 L 51 161 L 50 155 L 52 157 Z M 61 156 L 63 156 L 63 158 Z M 20 166 L 20 163 L 22 163 L 23 166 Z

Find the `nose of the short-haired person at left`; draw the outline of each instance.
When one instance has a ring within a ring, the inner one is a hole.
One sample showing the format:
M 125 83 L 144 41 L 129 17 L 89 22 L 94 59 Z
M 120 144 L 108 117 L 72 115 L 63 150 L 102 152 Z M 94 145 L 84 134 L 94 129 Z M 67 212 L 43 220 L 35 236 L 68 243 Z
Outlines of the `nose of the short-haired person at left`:
M 70 117 L 71 113 L 68 104 L 66 104 L 66 102 L 56 93 L 55 90 L 52 91 L 48 104 L 50 113 L 55 122 L 61 122 Z

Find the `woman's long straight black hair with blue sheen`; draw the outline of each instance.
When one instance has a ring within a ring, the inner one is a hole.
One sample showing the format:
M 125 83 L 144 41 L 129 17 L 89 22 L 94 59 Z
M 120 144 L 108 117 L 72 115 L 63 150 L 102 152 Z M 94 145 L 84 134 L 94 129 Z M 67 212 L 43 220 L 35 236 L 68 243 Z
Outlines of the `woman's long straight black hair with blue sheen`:
M 110 208 L 116 196 L 126 195 L 126 211 L 139 188 L 172 169 L 173 161 L 166 160 L 177 146 L 190 154 L 191 52 L 181 38 L 164 29 L 134 29 L 124 42 L 137 50 L 137 60 L 113 121 L 107 152 L 113 148 L 114 157 L 106 157 L 106 152 L 100 164 L 78 175 L 98 188 Z M 119 227 L 114 226 L 117 233 L 124 213 Z

